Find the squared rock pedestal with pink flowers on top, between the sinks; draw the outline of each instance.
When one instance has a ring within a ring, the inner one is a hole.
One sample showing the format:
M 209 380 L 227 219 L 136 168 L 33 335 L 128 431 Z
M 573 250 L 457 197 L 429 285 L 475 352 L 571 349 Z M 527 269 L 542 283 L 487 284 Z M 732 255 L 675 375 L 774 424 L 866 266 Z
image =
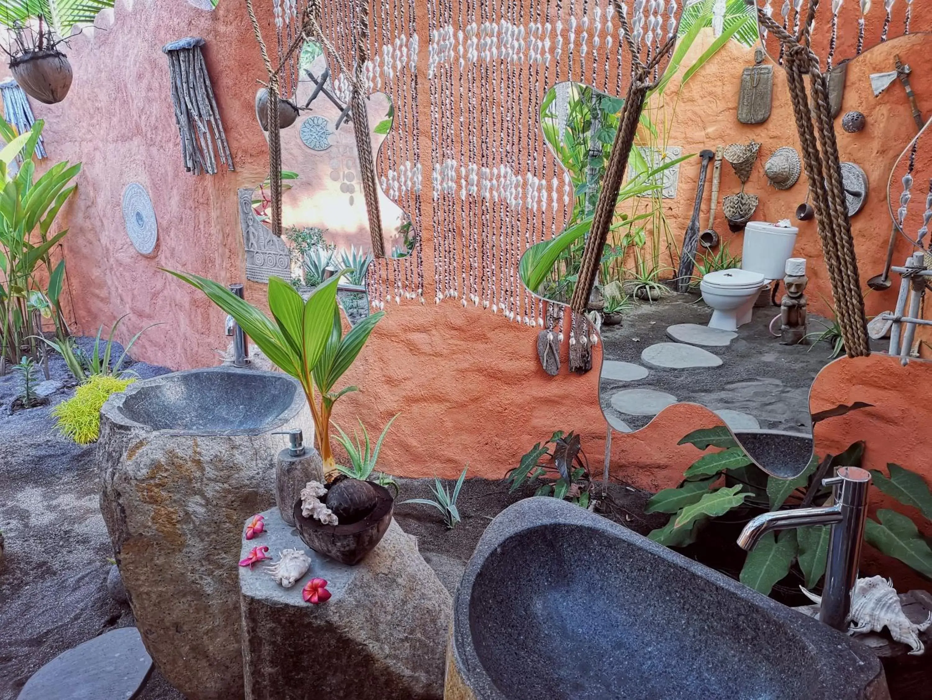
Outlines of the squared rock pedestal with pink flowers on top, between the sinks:
M 278 560 L 304 549 L 310 570 L 292 588 L 263 565 L 240 568 L 246 697 L 303 700 L 313 689 L 327 700 L 439 700 L 452 601 L 418 554 L 416 539 L 394 521 L 363 561 L 349 567 L 311 551 L 278 509 L 264 513 L 266 531 L 242 540 Z M 310 605 L 301 589 L 323 578 L 333 594 Z

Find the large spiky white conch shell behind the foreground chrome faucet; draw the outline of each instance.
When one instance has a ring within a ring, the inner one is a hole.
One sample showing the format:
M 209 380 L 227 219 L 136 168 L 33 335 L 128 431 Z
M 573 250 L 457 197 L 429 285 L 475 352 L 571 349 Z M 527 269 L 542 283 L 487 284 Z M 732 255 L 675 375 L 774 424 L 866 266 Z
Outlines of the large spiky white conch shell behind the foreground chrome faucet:
M 822 604 L 821 596 L 810 593 L 802 586 L 800 588 L 810 600 L 818 605 Z M 899 604 L 893 582 L 884 579 L 883 576 L 871 576 L 868 579 L 857 579 L 851 595 L 848 622 L 854 623 L 848 628 L 849 635 L 880 632 L 886 627 L 894 641 L 908 645 L 910 653 L 918 656 L 925 652 L 925 645 L 919 639 L 919 633 L 932 626 L 932 612 L 925 618 L 925 622 L 913 624 Z

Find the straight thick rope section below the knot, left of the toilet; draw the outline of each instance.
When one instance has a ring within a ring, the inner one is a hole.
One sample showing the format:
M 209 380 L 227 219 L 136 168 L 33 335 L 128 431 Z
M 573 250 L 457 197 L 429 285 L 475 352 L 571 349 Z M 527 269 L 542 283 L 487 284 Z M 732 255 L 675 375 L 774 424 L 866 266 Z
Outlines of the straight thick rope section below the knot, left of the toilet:
M 641 70 L 638 69 L 636 77 L 643 76 Z M 628 156 L 631 153 L 631 146 L 634 145 L 637 124 L 647 92 L 648 85 L 640 79 L 633 79 L 624 98 L 624 113 L 621 124 L 615 132 L 615 141 L 611 144 L 609 164 L 606 167 L 602 190 L 596 202 L 596 212 L 593 213 L 589 238 L 583 249 L 579 277 L 570 299 L 570 307 L 580 313 L 583 313 L 589 304 L 589 295 L 592 294 L 593 285 L 596 283 L 596 275 L 602 262 L 602 252 L 609 239 L 611 220 L 615 216 L 618 191 L 622 186 L 624 171 L 628 167 Z

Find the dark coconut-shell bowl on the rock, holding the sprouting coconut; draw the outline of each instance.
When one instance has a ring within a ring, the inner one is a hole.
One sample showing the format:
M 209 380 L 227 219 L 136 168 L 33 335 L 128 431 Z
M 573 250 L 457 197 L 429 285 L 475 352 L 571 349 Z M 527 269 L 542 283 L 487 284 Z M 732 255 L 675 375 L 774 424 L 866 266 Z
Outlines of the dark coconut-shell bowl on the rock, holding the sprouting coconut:
M 351 480 L 350 480 L 351 481 Z M 346 484 L 347 481 L 338 481 L 327 489 L 327 498 L 324 503 L 334 511 L 339 517 L 341 507 L 344 507 L 349 501 L 350 509 L 357 508 L 354 501 L 355 494 L 351 494 L 349 499 L 341 500 L 340 504 L 331 502 L 333 494 L 331 493 L 339 484 Z M 311 517 L 305 517 L 301 514 L 301 501 L 295 503 L 295 528 L 301 539 L 315 552 L 323 556 L 329 556 L 342 564 L 359 564 L 366 555 L 376 548 L 381 541 L 385 531 L 391 525 L 391 514 L 394 511 L 394 499 L 391 497 L 389 489 L 373 484 L 371 481 L 359 482 L 372 487 L 375 497 L 375 504 L 371 508 L 364 508 L 367 511 L 361 519 L 355 522 L 340 521 L 339 525 L 322 525 Z M 347 513 L 348 511 L 342 511 Z M 358 513 L 360 511 L 357 511 Z M 347 515 L 344 515 L 346 517 Z

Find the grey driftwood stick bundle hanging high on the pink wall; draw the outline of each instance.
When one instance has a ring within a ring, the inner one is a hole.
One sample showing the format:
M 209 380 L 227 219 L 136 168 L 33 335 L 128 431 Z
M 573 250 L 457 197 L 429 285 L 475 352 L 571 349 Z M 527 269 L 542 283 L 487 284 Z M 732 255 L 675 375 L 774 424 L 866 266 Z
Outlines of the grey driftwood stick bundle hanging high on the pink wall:
M 224 125 L 213 98 L 211 76 L 201 47 L 204 40 L 188 36 L 162 47 L 169 59 L 171 103 L 181 137 L 185 171 L 199 175 L 217 172 L 217 160 L 233 170 L 233 157 L 226 144 Z

